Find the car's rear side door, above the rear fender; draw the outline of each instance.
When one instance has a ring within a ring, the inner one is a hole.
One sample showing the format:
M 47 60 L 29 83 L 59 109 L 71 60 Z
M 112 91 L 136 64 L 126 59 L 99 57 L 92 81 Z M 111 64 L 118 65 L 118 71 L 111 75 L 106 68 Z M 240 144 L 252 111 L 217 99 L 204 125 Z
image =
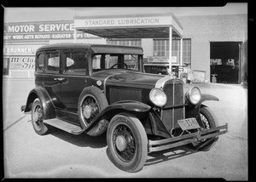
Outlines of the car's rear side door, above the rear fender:
M 49 93 L 53 104 L 57 108 L 63 108 L 61 95 L 60 64 L 61 51 L 49 50 L 45 52 L 44 88 Z

